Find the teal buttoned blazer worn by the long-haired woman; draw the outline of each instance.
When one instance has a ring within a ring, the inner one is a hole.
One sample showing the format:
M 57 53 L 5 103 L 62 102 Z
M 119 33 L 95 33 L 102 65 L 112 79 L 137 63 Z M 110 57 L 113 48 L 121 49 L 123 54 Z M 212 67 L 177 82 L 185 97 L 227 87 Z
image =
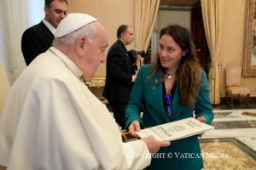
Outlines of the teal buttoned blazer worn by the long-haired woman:
M 191 108 L 179 104 L 179 84 L 175 89 L 172 99 L 172 116 L 166 116 L 163 107 L 162 73 L 157 71 L 153 77 L 149 77 L 151 65 L 143 65 L 138 71 L 137 79 L 131 92 L 130 102 L 125 111 L 125 126 L 137 120 L 143 127 L 153 127 L 167 122 L 174 122 L 184 118 L 204 116 L 207 124 L 212 123 L 213 113 L 210 101 L 210 89 L 207 75 L 201 72 L 201 86 L 196 99 L 195 107 Z M 143 116 L 140 113 L 143 112 Z M 161 156 L 161 157 L 159 157 Z M 161 148 L 153 156 L 147 169 L 201 169 L 203 168 L 201 149 L 198 136 L 172 141 L 171 145 Z

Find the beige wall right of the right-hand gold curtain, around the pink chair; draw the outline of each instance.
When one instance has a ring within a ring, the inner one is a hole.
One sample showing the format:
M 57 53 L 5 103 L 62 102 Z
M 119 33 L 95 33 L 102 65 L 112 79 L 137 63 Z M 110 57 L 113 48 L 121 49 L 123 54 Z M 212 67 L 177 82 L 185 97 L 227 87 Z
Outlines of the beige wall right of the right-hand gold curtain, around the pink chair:
M 223 64 L 223 68 L 218 70 L 222 97 L 225 96 L 224 67 L 230 63 L 242 67 L 246 1 L 224 1 L 224 9 L 222 48 L 218 59 Z M 256 77 L 242 77 L 241 82 L 251 89 L 252 96 L 256 96 Z

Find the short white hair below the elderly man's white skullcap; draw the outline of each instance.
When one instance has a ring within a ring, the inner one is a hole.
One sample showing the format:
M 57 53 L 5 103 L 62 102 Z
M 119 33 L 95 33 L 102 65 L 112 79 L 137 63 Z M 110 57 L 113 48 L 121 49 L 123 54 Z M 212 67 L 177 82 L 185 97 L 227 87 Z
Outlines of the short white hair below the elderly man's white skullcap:
M 65 48 L 70 47 L 73 43 L 81 36 L 86 37 L 88 42 L 93 42 L 93 37 L 96 34 L 96 25 L 94 22 L 90 22 L 89 24 L 82 26 L 76 31 L 73 31 L 66 36 L 55 38 L 53 42 L 53 46 L 56 47 L 61 45 Z

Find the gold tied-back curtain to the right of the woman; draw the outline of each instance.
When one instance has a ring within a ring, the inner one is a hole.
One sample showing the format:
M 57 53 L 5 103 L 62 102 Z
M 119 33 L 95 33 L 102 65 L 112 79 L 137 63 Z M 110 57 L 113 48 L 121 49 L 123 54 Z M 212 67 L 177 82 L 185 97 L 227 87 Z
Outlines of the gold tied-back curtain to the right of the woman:
M 218 83 L 218 56 L 221 47 L 222 22 L 224 13 L 223 0 L 201 0 L 207 43 L 211 54 L 212 65 L 209 72 L 209 86 L 213 105 L 220 103 Z

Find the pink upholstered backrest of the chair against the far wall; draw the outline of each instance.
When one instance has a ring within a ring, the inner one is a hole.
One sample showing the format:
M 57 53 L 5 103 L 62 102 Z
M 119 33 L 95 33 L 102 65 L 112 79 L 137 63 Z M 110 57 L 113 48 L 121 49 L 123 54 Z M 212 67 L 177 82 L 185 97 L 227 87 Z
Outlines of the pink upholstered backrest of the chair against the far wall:
M 239 65 L 226 66 L 226 86 L 241 86 L 241 67 Z

